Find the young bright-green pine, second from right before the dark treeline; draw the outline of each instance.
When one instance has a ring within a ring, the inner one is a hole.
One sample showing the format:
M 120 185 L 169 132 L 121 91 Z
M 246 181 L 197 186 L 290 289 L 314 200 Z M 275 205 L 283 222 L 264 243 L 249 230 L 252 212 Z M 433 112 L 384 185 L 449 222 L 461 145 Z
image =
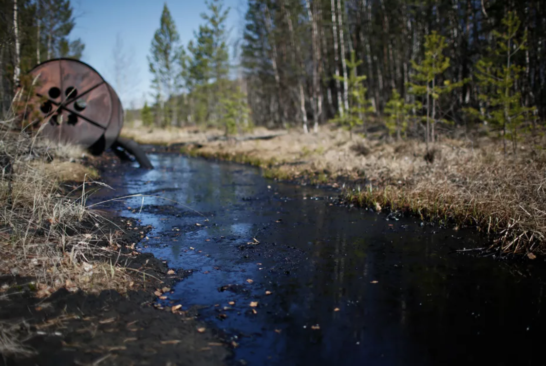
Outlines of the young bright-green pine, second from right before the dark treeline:
M 444 81 L 443 85 L 438 82 L 438 77 L 449 68 L 450 59 L 444 56 L 443 50 L 446 48 L 446 38 L 437 32 L 432 32 L 425 37 L 425 58 L 421 64 L 412 60 L 413 69 L 416 71 L 413 79 L 418 82 L 409 83 L 409 92 L 415 95 L 425 96 L 426 98 L 426 150 L 429 150 L 429 142 L 434 143 L 434 127 L 438 119 L 436 118 L 436 105 L 440 95 L 449 93 L 454 88 L 464 84 L 464 81 L 450 83 Z M 432 102 L 432 106 L 431 106 Z

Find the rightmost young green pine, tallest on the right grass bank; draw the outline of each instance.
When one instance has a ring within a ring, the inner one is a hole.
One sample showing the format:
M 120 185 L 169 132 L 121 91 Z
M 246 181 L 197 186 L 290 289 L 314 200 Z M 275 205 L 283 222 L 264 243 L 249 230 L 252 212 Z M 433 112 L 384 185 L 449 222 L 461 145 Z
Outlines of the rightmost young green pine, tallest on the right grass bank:
M 497 43 L 489 50 L 490 55 L 476 63 L 475 77 L 480 87 L 479 99 L 489 108 L 483 113 L 474 108 L 468 112 L 486 123 L 500 127 L 505 155 L 506 140 L 511 139 L 514 154 L 517 154 L 518 127 L 529 115 L 536 114 L 535 107 L 524 107 L 521 93 L 515 86 L 524 68 L 514 63 L 518 52 L 525 50 L 527 32 L 517 38 L 521 21 L 512 11 L 502 20 L 504 32 L 493 32 Z

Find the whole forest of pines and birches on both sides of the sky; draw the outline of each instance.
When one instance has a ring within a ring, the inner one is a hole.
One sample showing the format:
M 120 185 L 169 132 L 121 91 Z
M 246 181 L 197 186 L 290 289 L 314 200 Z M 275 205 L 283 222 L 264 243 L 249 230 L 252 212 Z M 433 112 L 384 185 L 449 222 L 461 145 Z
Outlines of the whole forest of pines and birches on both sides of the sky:
M 234 133 L 379 123 L 393 138 L 426 142 L 464 126 L 515 148 L 518 133 L 536 132 L 546 113 L 539 0 L 249 0 L 235 44 L 232 9 L 206 4 L 187 45 L 164 4 L 148 56 L 145 124 Z M 0 17 L 5 112 L 16 75 L 48 58 L 80 58 L 84 44 L 69 37 L 69 0 L 3 0 Z

